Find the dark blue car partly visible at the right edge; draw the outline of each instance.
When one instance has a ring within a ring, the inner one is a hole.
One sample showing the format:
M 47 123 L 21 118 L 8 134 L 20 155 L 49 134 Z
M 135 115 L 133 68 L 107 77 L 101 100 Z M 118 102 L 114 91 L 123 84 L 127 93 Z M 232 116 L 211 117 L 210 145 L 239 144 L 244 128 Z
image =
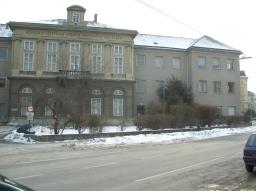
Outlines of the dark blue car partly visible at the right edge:
M 253 172 L 256 166 L 256 134 L 252 134 L 244 147 L 244 164 L 248 172 Z

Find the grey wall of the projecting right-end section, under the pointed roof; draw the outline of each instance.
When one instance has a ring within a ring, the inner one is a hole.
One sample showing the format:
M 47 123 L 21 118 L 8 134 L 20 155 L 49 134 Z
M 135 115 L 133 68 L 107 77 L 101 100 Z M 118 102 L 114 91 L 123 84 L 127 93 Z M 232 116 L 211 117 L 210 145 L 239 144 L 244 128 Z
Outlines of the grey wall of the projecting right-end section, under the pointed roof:
M 236 108 L 236 115 L 241 115 L 240 106 L 240 67 L 237 54 L 215 51 L 190 51 L 191 80 L 194 102 L 202 105 L 221 106 L 222 114 L 228 114 L 228 107 Z M 206 66 L 199 68 L 197 58 L 199 56 L 206 58 Z M 219 58 L 220 69 L 213 69 L 213 58 Z M 227 69 L 226 61 L 230 59 L 234 61 L 234 69 Z M 207 81 L 207 91 L 199 92 L 199 81 Z M 214 81 L 221 82 L 221 92 L 215 93 Z M 234 83 L 234 92 L 228 93 L 228 82 Z

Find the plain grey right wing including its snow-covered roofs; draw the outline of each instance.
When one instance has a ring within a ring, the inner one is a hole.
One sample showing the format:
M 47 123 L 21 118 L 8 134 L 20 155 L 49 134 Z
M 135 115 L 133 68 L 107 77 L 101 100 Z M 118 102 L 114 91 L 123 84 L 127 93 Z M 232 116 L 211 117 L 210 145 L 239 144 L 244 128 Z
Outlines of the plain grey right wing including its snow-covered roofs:
M 138 110 L 158 100 L 157 88 L 175 76 L 191 87 L 195 103 L 214 106 L 222 115 L 241 115 L 240 51 L 208 36 L 139 34 L 134 43 Z

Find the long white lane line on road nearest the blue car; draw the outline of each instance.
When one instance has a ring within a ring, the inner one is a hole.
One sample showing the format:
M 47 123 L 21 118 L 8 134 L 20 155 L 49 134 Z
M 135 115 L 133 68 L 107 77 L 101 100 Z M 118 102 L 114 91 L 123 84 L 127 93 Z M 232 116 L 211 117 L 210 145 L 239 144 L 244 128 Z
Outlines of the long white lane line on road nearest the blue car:
M 168 172 L 156 174 L 156 175 L 153 175 L 153 176 L 148 176 L 148 177 L 145 177 L 145 178 L 142 178 L 142 179 L 138 179 L 138 180 L 135 180 L 135 181 L 136 182 L 142 182 L 142 181 L 145 181 L 145 180 L 158 178 L 160 176 L 165 176 L 167 174 L 171 174 L 171 173 L 174 173 L 174 172 L 182 171 L 182 170 L 185 170 L 185 169 L 188 169 L 188 168 L 192 168 L 192 167 L 195 167 L 195 166 L 200 166 L 200 165 L 203 165 L 203 164 L 206 164 L 206 163 L 210 163 L 210 162 L 213 162 L 213 161 L 216 161 L 216 160 L 219 160 L 219 159 L 223 159 L 223 158 L 225 158 L 225 157 L 224 156 L 223 157 L 217 157 L 217 158 L 214 158 L 214 159 L 211 159 L 211 160 L 195 163 L 195 164 L 192 164 L 190 166 L 185 166 L 183 168 L 178 168 L 178 169 L 175 169 L 175 170 L 171 170 L 171 171 L 168 171 Z

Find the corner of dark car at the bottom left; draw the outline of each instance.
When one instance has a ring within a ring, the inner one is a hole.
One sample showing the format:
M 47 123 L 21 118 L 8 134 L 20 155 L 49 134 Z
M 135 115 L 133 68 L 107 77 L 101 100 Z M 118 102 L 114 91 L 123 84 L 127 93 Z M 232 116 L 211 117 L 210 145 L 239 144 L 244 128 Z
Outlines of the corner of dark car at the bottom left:
M 34 191 L 34 190 L 0 175 L 0 191 Z

